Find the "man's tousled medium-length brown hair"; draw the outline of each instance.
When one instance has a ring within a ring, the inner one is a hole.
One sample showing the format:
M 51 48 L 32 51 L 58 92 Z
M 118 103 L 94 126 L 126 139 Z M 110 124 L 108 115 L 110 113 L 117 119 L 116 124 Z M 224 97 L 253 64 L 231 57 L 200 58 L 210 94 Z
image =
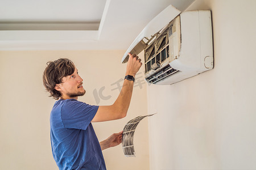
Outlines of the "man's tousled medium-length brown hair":
M 61 94 L 55 90 L 56 84 L 60 84 L 62 78 L 73 74 L 74 71 L 75 65 L 68 58 L 60 58 L 47 62 L 47 67 L 43 73 L 43 84 L 50 93 L 49 97 L 53 97 L 55 100 L 59 99 Z

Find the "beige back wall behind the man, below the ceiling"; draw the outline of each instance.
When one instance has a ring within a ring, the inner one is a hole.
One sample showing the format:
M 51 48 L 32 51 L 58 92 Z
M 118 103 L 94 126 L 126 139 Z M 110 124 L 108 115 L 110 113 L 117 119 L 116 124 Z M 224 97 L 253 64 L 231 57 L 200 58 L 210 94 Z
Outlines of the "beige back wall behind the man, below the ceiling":
M 117 87 L 113 83 L 125 75 L 126 65 L 121 63 L 124 52 L 0 52 L 0 169 L 58 169 L 52 157 L 49 136 L 49 113 L 55 100 L 48 97 L 42 83 L 47 61 L 60 57 L 72 59 L 86 88 L 86 95 L 79 100 L 96 105 L 93 91 L 105 87 L 102 95 L 111 97 L 108 100 L 99 97 L 98 105 L 109 105 L 119 94 L 118 90 L 113 90 Z M 146 84 L 134 87 L 127 117 L 93 124 L 98 139 L 101 141 L 121 131 L 130 119 L 147 114 L 146 95 Z M 147 139 L 147 120 L 143 120 L 134 137 L 137 157 L 126 158 L 121 145 L 109 148 L 103 151 L 107 168 L 148 169 Z

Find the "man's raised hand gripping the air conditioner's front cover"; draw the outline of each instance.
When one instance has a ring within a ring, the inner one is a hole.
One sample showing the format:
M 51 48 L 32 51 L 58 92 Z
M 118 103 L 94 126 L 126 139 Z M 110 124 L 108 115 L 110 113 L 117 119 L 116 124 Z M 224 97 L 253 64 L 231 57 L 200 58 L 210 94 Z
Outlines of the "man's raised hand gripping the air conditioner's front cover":
M 128 54 L 129 59 L 126 67 L 126 75 L 135 76 L 135 74 L 139 71 L 139 68 L 142 66 L 141 59 L 136 54 Z

